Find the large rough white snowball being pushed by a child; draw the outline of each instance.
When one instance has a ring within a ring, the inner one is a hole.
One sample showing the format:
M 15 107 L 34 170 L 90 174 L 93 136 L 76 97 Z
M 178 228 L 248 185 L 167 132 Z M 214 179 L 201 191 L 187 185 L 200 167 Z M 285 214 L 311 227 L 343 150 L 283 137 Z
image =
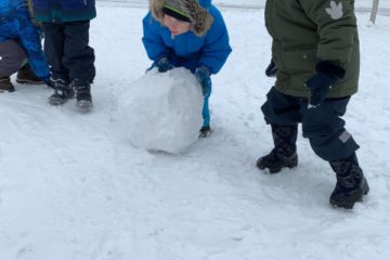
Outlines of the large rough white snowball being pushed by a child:
M 179 154 L 198 139 L 202 107 L 202 90 L 190 70 L 152 70 L 122 93 L 120 125 L 133 145 Z

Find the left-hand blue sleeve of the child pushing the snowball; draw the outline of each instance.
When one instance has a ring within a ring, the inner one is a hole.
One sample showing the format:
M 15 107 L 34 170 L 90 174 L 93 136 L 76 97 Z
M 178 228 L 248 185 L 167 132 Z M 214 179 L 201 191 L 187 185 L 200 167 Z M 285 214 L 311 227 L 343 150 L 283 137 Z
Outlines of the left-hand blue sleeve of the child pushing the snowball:
M 161 57 L 168 57 L 170 49 L 164 43 L 161 38 L 162 25 L 157 22 L 151 13 L 143 20 L 143 38 L 147 56 L 156 62 Z

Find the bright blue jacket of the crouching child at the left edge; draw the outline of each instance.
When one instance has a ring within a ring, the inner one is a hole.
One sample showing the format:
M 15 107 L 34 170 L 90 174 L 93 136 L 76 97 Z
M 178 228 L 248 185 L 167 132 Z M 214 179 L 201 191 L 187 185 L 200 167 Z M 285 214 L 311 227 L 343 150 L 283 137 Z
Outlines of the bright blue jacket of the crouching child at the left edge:
M 50 76 L 38 28 L 32 24 L 26 0 L 0 0 L 0 42 L 15 40 L 25 50 L 34 73 Z

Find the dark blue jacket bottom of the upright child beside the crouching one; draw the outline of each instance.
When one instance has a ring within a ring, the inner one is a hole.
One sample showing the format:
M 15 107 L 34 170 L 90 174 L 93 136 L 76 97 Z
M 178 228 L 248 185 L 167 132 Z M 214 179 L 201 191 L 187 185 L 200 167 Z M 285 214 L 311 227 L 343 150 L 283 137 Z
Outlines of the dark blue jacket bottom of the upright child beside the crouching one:
M 67 23 L 96 17 L 95 0 L 32 0 L 32 3 L 38 22 Z

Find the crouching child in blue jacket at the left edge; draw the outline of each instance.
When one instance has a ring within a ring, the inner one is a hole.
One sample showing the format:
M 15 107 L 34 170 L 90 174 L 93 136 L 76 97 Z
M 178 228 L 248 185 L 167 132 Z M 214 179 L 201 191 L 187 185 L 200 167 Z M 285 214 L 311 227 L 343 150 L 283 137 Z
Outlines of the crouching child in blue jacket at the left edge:
M 50 78 L 27 0 L 0 0 L 0 91 L 14 91 L 10 76 L 16 72 L 20 83 L 42 83 Z

